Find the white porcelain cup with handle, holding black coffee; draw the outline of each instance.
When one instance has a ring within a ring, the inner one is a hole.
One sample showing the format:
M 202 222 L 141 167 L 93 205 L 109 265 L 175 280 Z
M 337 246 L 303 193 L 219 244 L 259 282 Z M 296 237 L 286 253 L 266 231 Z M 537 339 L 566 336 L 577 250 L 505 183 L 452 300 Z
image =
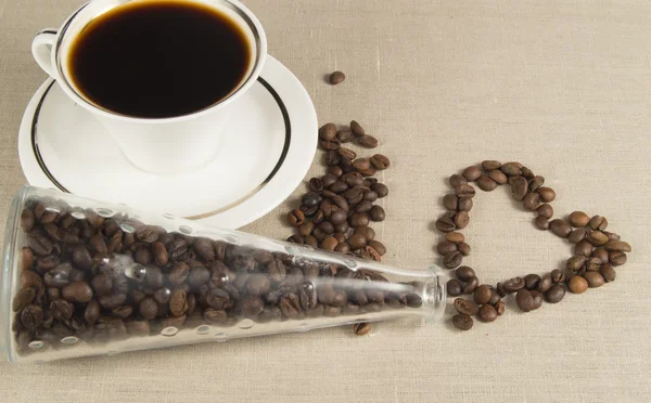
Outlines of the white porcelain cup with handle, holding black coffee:
M 92 0 L 73 13 L 59 30 L 44 29 L 39 32 L 31 43 L 31 53 L 40 67 L 58 81 L 77 105 L 102 122 L 136 167 L 158 174 L 200 169 L 218 152 L 225 135 L 222 128 L 230 115 L 229 108 L 253 87 L 265 65 L 265 31 L 255 15 L 235 0 L 178 0 L 214 8 L 242 28 L 252 49 L 248 72 L 230 95 L 206 109 L 171 118 L 124 116 L 104 109 L 84 96 L 71 79 L 68 57 L 71 44 L 84 27 L 108 10 L 136 1 L 148 0 Z

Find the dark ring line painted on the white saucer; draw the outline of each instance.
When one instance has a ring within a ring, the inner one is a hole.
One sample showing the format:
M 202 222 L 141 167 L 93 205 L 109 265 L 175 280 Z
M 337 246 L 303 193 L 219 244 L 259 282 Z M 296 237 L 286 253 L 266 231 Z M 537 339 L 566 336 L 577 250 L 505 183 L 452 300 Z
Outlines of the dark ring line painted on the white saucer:
M 284 127 L 285 127 L 285 139 L 284 139 L 284 144 L 282 146 L 282 153 L 280 153 L 280 158 L 278 159 L 278 162 L 276 162 L 276 166 L 273 167 L 271 172 L 267 176 L 267 178 L 259 185 L 257 185 L 253 191 L 251 191 L 251 193 L 248 193 L 246 196 L 244 196 L 244 197 L 240 198 L 239 200 L 235 200 L 222 208 L 215 209 L 215 210 L 204 212 L 201 214 L 196 214 L 196 216 L 186 217 L 186 219 L 197 220 L 197 219 L 215 216 L 217 213 L 224 212 L 226 210 L 231 209 L 234 206 L 242 204 L 243 202 L 247 200 L 253 195 L 258 193 L 263 187 L 265 187 L 265 185 L 267 183 L 269 183 L 269 181 L 271 181 L 271 179 L 276 176 L 276 173 L 278 173 L 278 171 L 280 170 L 280 167 L 284 162 L 284 160 L 288 156 L 288 152 L 290 150 L 290 143 L 292 141 L 292 123 L 290 120 L 290 114 L 288 113 L 284 102 L 282 102 L 282 99 L 280 98 L 278 92 L 273 89 L 273 87 L 271 87 L 271 84 L 261 77 L 258 77 L 257 81 L 260 84 L 263 84 L 263 87 L 265 87 L 265 89 L 267 91 L 269 91 L 269 93 L 276 101 L 276 104 L 278 105 L 278 107 L 280 108 L 280 112 L 282 114 L 282 119 L 283 119 Z M 60 191 L 65 192 L 65 193 L 71 193 L 65 186 L 63 186 L 63 184 L 61 184 L 61 182 L 56 178 L 54 178 L 54 176 L 52 174 L 50 169 L 48 169 L 48 166 L 46 165 L 46 162 L 43 161 L 43 158 L 41 156 L 40 150 L 38 147 L 38 140 L 36 138 L 37 131 L 38 131 L 38 120 L 39 120 L 41 107 L 46 101 L 46 98 L 48 96 L 48 93 L 50 92 L 50 90 L 52 89 L 52 87 L 54 86 L 55 82 L 56 81 L 52 80 L 52 82 L 48 86 L 48 88 L 41 95 L 41 99 L 38 101 L 36 110 L 34 112 L 34 117 L 31 119 L 31 150 L 34 151 L 34 156 L 36 158 L 36 161 L 38 162 L 38 166 L 41 168 L 41 170 L 43 171 L 46 177 L 48 177 L 50 182 L 52 182 Z

